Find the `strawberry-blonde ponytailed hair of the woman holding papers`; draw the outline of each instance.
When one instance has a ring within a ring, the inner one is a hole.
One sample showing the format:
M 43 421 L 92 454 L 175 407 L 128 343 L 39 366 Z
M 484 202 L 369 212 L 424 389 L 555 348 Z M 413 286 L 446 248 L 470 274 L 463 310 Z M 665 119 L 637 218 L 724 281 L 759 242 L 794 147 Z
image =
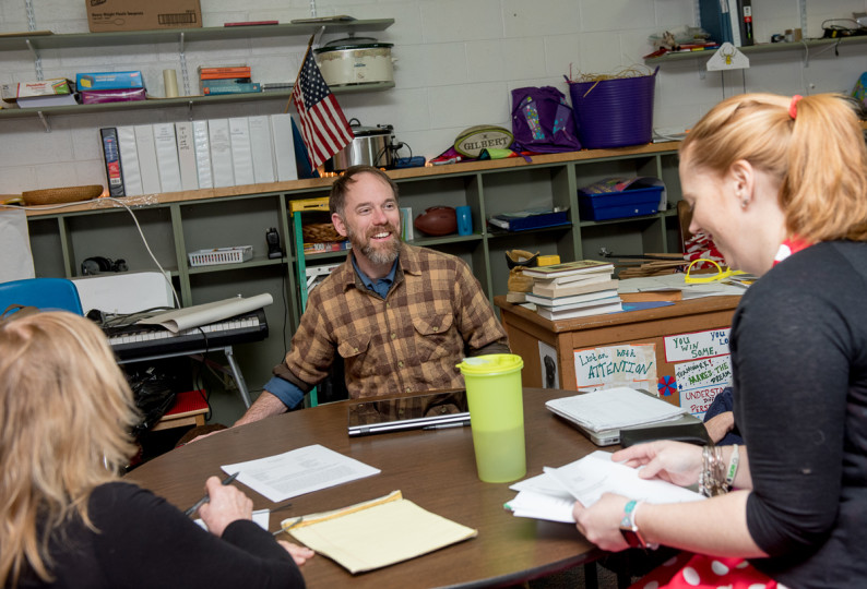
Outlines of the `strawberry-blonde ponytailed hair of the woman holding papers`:
M 721 176 L 739 159 L 774 175 L 789 236 L 867 241 L 867 148 L 842 95 L 733 96 L 690 130 L 680 153 Z

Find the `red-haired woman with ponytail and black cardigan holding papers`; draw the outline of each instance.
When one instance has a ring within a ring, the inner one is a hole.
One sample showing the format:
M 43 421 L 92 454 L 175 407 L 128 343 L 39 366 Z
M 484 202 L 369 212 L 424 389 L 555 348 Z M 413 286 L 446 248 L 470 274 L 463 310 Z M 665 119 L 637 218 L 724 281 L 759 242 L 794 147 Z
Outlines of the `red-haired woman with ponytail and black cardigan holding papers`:
M 746 587 L 745 577 L 750 587 L 862 587 L 867 149 L 853 104 L 830 94 L 726 99 L 684 142 L 680 179 L 690 231 L 761 276 L 731 334 L 735 422 L 749 452 L 657 442 L 615 453 L 643 466 L 643 478 L 699 483 L 713 496 L 645 505 L 606 495 L 575 505 L 578 529 L 606 550 L 698 553 L 639 587 Z

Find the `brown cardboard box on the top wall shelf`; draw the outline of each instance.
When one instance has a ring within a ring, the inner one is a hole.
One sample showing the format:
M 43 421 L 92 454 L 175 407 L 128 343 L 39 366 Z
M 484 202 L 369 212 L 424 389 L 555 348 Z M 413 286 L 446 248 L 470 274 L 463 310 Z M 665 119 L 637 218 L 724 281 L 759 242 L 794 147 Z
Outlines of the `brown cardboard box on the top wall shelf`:
M 91 33 L 199 28 L 199 0 L 84 0 Z

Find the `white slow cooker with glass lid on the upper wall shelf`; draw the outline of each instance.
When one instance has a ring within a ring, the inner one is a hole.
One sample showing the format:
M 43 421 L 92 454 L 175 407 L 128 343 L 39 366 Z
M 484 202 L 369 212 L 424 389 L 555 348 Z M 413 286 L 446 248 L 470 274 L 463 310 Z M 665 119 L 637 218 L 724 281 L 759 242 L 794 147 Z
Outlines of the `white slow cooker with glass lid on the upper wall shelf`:
M 313 52 L 329 86 L 394 81 L 391 48 L 372 37 L 348 37 L 326 43 Z

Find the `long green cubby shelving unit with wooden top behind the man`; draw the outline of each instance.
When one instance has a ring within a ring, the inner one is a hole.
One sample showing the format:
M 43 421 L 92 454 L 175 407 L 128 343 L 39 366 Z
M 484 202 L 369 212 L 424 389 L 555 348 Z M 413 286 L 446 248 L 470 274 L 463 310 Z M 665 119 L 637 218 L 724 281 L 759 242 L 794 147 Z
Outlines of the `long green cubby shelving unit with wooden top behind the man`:
M 508 250 L 558 254 L 563 261 L 598 259 L 601 248 L 615 257 L 679 251 L 674 212 L 680 199 L 677 146 L 648 144 L 536 156 L 532 163 L 509 158 L 392 170 L 389 175 L 399 184 L 401 206 L 412 207 L 414 217 L 435 205 L 471 206 L 473 235 L 417 236 L 413 243 L 463 259 L 492 301 L 507 291 Z M 607 221 L 581 219 L 578 189 L 610 176 L 662 178 L 669 208 Z M 134 212 L 161 265 L 170 272 L 183 305 L 235 294 L 273 294 L 275 304 L 265 309 L 271 337 L 236 350 L 252 382 L 268 378 L 298 325 L 306 290 L 302 264 L 334 263 L 346 256 L 346 252 L 306 260 L 298 255 L 300 223 L 295 223 L 293 203 L 326 197 L 332 182 L 321 178 L 122 200 Z M 491 231 L 484 221 L 498 213 L 553 206 L 569 208 L 570 225 L 500 232 Z M 78 277 L 81 261 L 93 255 L 122 257 L 131 272 L 153 269 L 131 216 L 114 202 L 96 200 L 62 209 L 31 211 L 27 218 L 37 276 Z M 269 227 L 280 233 L 285 251 L 281 259 L 266 257 Z M 188 252 L 230 245 L 252 245 L 253 259 L 218 266 L 188 264 Z

